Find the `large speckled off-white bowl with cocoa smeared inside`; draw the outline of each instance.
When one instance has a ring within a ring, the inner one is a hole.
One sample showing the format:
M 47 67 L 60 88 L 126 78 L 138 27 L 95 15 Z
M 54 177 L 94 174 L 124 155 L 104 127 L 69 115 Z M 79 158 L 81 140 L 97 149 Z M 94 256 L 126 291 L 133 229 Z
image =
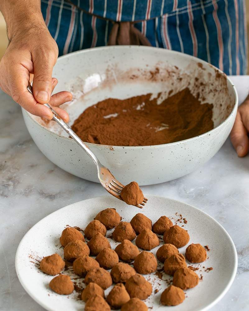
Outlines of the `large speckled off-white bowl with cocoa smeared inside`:
M 158 69 L 159 72 L 158 72 Z M 167 97 L 189 87 L 201 102 L 212 103 L 214 129 L 157 146 L 104 146 L 88 143 L 103 165 L 120 182 L 162 183 L 190 173 L 213 157 L 228 137 L 237 112 L 237 92 L 224 73 L 198 58 L 142 46 L 112 46 L 82 50 L 58 58 L 55 91 L 69 90 L 65 104 L 70 125 L 88 106 L 106 98 L 162 92 Z M 39 149 L 54 164 L 78 177 L 98 182 L 96 167 L 55 122 L 44 123 L 23 110 L 23 117 Z M 134 127 L 136 125 L 134 124 Z

